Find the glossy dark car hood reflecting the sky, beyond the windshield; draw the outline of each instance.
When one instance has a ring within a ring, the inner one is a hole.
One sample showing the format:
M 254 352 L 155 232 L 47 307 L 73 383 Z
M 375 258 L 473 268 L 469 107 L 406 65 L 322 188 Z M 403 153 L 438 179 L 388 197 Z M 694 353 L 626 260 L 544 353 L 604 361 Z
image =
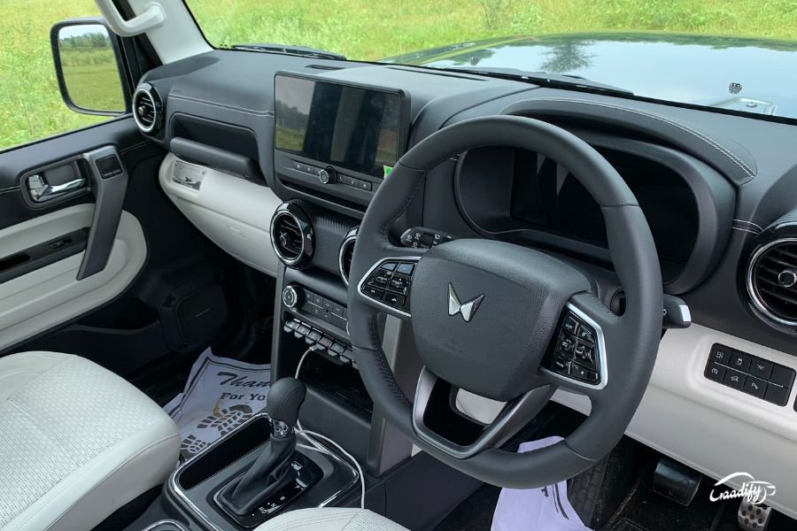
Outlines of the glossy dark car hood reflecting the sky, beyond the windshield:
M 515 36 L 384 61 L 562 73 L 637 96 L 797 118 L 797 42 L 790 41 L 614 32 Z

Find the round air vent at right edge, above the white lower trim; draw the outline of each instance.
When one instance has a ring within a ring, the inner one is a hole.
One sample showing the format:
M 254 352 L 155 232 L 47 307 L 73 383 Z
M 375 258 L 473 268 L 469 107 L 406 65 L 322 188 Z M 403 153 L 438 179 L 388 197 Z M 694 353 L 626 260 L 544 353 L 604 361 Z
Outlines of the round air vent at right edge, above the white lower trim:
M 747 292 L 755 307 L 783 325 L 797 325 L 797 238 L 755 250 L 747 267 Z

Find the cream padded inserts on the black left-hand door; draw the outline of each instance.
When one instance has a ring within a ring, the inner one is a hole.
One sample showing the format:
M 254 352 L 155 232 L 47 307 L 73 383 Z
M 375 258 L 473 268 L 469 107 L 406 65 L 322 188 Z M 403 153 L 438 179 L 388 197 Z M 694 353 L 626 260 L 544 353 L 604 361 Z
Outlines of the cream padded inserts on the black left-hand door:
M 91 226 L 95 207 L 80 204 L 0 230 L 2 254 Z M 78 280 L 86 251 L 0 283 L 0 350 L 101 306 L 128 288 L 141 271 L 147 244 L 138 220 L 123 212 L 107 264 Z

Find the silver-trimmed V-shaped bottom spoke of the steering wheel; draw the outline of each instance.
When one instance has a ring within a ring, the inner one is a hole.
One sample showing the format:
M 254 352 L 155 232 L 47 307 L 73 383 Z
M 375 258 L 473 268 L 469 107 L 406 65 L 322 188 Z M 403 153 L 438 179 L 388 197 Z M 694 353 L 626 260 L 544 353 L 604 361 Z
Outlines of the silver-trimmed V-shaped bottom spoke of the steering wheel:
M 516 435 L 542 410 L 553 395 L 544 383 L 510 400 L 488 425 L 457 410 L 458 389 L 424 367 L 418 378 L 413 405 L 413 427 L 425 442 L 455 459 L 467 459 L 497 448 Z M 441 434 L 445 429 L 451 433 Z

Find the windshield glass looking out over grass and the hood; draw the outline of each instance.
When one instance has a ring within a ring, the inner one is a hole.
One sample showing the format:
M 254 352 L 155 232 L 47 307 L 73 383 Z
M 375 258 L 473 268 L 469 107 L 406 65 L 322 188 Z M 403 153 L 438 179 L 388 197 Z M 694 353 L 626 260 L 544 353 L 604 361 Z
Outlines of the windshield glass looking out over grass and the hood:
M 187 4 L 218 48 L 278 43 L 349 60 L 565 74 L 635 96 L 797 118 L 794 0 Z

